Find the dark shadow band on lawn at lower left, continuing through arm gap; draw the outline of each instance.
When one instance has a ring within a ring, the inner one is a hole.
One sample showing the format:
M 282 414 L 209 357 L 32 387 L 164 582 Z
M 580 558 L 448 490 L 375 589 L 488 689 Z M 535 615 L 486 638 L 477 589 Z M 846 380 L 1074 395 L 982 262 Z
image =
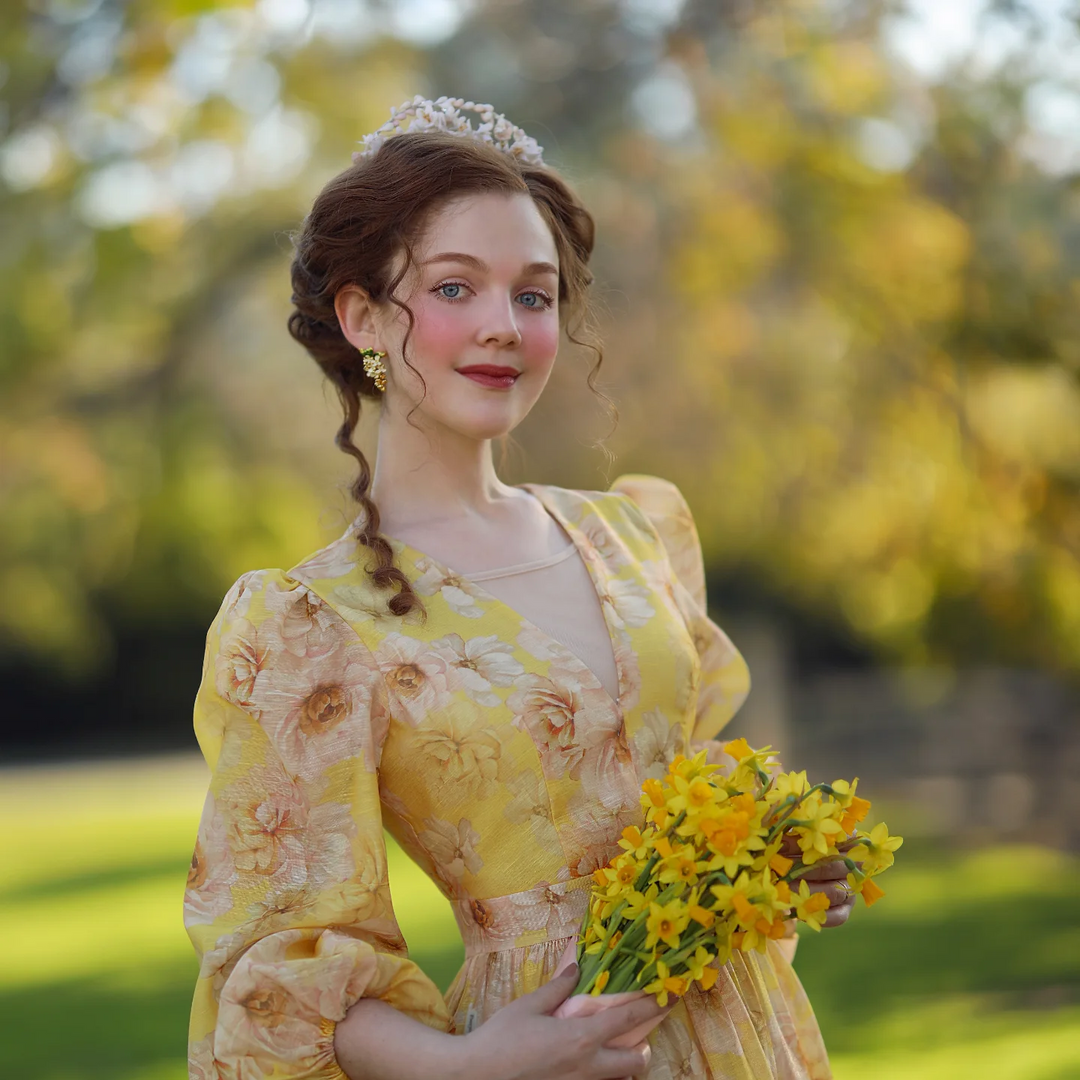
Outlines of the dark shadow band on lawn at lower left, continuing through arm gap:
M 461 948 L 413 951 L 445 990 Z M 186 1076 L 188 1011 L 197 968 L 174 964 L 143 977 L 79 980 L 0 990 L 4 1080 L 134 1080 Z

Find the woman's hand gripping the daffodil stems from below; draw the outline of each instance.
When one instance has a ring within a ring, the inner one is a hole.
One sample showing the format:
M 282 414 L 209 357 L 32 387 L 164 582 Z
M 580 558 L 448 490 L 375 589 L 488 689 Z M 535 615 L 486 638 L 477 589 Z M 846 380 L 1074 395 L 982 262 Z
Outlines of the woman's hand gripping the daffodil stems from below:
M 461 1039 L 462 1063 L 476 1080 L 613 1080 L 642 1077 L 649 1044 L 612 1049 L 612 1039 L 667 1010 L 651 997 L 593 1016 L 551 1014 L 577 985 L 577 964 L 523 995 Z

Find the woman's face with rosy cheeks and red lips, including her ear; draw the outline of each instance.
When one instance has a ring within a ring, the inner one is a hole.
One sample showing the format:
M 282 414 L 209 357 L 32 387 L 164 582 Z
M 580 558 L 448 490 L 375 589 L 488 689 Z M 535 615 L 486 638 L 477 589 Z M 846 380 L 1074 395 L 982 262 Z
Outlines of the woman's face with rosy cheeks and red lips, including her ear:
M 388 407 L 416 406 L 415 420 L 470 438 L 507 434 L 540 396 L 558 350 L 551 230 L 527 194 L 462 195 L 432 216 L 414 254 L 397 295 L 416 319 L 408 360 L 423 383 L 402 361 L 407 315 L 380 305 Z

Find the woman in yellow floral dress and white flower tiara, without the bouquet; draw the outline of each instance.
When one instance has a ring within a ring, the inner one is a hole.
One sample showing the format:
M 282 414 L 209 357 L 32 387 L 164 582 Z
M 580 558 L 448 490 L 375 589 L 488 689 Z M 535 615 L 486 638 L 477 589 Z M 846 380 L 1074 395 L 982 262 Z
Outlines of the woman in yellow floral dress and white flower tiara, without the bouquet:
M 652 999 L 551 1015 L 642 781 L 712 740 L 748 678 L 671 484 L 496 475 L 491 441 L 580 325 L 593 220 L 524 132 L 489 106 L 473 131 L 472 108 L 403 107 L 297 238 L 289 329 L 340 395 L 361 511 L 292 570 L 242 577 L 207 637 L 191 1076 L 827 1077 L 784 943 L 737 954 L 651 1045 L 608 1043 Z M 381 402 L 374 476 L 362 399 Z M 394 921 L 383 825 L 454 906 L 445 1001 Z M 835 870 L 815 885 L 833 924 L 851 909 Z

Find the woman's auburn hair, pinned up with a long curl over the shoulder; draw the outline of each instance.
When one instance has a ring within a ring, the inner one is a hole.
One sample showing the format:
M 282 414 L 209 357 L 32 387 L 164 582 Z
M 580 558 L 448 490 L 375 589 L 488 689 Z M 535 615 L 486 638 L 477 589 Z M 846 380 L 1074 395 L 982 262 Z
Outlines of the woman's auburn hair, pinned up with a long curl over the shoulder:
M 350 487 L 361 504 L 356 539 L 375 555 L 368 572 L 380 589 L 396 586 L 388 607 L 404 616 L 420 598 L 394 566 L 393 549 L 379 535 L 379 510 L 369 495 L 372 469 L 353 443 L 361 401 L 378 401 L 381 392 L 364 374 L 360 353 L 341 333 L 334 298 L 346 285 L 363 288 L 376 303 L 390 302 L 405 312 L 408 346 L 415 318 L 395 291 L 415 265 L 414 245 L 433 213 L 458 195 L 486 192 L 531 197 L 551 229 L 558 252 L 559 318 L 569 340 L 595 352 L 589 387 L 603 352 L 592 336 L 576 332 L 588 325 L 589 259 L 595 222 L 566 181 L 551 168 L 523 164 L 484 143 L 441 132 L 404 133 L 387 139 L 373 154 L 361 158 L 335 176 L 319 193 L 299 231 L 293 235 L 293 305 L 288 332 L 314 357 L 341 402 L 342 422 L 337 446 L 360 467 Z M 404 261 L 394 272 L 394 262 Z M 408 363 L 407 356 L 403 356 Z

